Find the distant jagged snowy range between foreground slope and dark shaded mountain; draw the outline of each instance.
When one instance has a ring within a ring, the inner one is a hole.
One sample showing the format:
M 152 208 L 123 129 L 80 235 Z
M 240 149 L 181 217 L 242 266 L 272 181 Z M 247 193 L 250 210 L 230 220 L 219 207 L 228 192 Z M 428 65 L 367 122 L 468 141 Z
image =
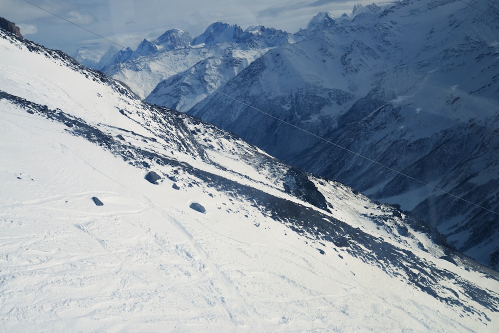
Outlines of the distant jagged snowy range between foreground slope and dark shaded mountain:
M 215 22 L 196 38 L 169 29 L 154 41 L 144 39 L 135 51 L 130 47 L 115 51 L 113 57 L 90 67 L 126 83 L 142 98 L 158 88 L 150 101 L 187 111 L 268 49 L 290 40 L 291 34 L 273 28 L 243 30 Z M 209 86 L 194 87 L 198 82 Z

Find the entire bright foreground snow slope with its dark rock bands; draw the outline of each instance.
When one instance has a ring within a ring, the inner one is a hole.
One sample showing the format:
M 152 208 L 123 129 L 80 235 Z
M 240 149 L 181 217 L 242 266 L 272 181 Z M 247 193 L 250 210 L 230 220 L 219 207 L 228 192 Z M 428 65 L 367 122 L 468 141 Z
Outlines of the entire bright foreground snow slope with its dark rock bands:
M 418 220 L 0 34 L 5 331 L 497 327 L 497 272 Z

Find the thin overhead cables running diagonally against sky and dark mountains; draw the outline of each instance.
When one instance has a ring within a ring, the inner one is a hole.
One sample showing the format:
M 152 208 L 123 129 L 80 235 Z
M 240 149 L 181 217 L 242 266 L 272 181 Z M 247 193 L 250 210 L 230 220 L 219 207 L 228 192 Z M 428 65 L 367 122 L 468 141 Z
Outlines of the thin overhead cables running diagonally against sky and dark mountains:
M 94 34 L 94 35 L 98 36 L 99 38 L 105 39 L 105 40 L 107 40 L 107 41 L 109 41 L 109 42 L 111 42 L 111 43 L 113 43 L 113 44 L 115 44 L 115 45 L 117 45 L 117 46 L 121 47 L 122 49 L 124 49 L 124 48 L 125 48 L 124 46 L 122 46 L 122 45 L 118 44 L 117 42 L 115 42 L 115 41 L 113 41 L 113 40 L 111 40 L 111 39 L 108 39 L 108 38 L 106 38 L 106 37 L 104 37 L 104 36 L 102 36 L 102 35 L 100 35 L 100 34 L 98 34 L 98 33 L 94 32 L 94 31 L 91 31 L 91 30 L 89 30 L 89 29 L 87 29 L 87 28 L 85 28 L 85 27 L 83 27 L 83 26 L 81 26 L 81 25 L 79 25 L 79 24 L 77 24 L 77 23 L 75 23 L 75 22 L 72 22 L 72 21 L 70 21 L 70 20 L 68 20 L 68 19 L 66 19 L 66 18 L 64 18 L 64 17 L 62 17 L 62 16 L 60 16 L 60 15 L 57 15 L 57 14 L 55 14 L 55 13 L 53 13 L 53 12 L 51 12 L 51 11 L 49 11 L 49 10 L 45 9 L 45 8 L 42 8 L 42 7 L 40 7 L 40 6 L 36 5 L 36 4 L 34 4 L 34 3 L 32 3 L 32 2 L 30 2 L 30 1 L 28 1 L 28 0 L 23 0 L 23 1 L 25 1 L 25 2 L 27 2 L 27 3 L 31 4 L 31 5 L 33 5 L 33 6 L 35 6 L 35 7 L 37 7 L 37 8 L 39 8 L 39 9 L 43 10 L 43 11 L 45 11 L 45 12 L 47 12 L 47 13 L 51 14 L 51 15 L 54 15 L 54 16 L 56 16 L 56 17 L 58 17 L 58 18 L 60 18 L 60 19 L 62 19 L 62 20 L 64 20 L 64 21 L 66 21 L 66 22 L 68 22 L 68 23 L 71 23 L 71 24 L 73 24 L 73 25 L 75 25 L 75 26 L 77 26 L 77 27 L 79 27 L 79 28 L 81 28 L 81 29 L 83 29 L 83 30 L 85 30 L 85 31 L 88 31 L 88 32 L 90 32 L 91 34 Z M 472 4 L 470 4 L 470 3 L 468 3 L 468 2 L 466 2 L 466 1 L 464 1 L 464 0 L 460 0 L 460 1 L 462 1 L 462 2 L 464 2 L 464 3 L 466 3 L 466 4 L 470 5 L 470 6 L 472 6 L 472 7 L 474 7 L 474 8 L 477 8 L 477 9 L 479 9 L 480 11 L 483 11 L 484 13 L 486 13 L 486 14 L 490 15 L 489 13 L 485 12 L 484 10 L 482 10 L 482 9 L 480 9 L 480 8 L 478 8 L 478 7 L 475 7 L 474 5 L 472 5 Z M 491 15 L 491 16 L 492 16 L 492 15 Z M 492 16 L 492 17 L 494 17 L 494 16 Z M 132 51 L 132 52 L 140 56 L 140 54 L 138 54 L 137 52 L 135 52 L 135 51 Z M 164 64 L 162 64 L 162 63 L 160 63 L 160 62 L 158 62 L 158 61 L 153 60 L 153 62 L 154 62 L 154 63 L 156 63 L 156 64 L 158 64 L 158 65 L 160 65 L 160 66 L 162 66 L 163 68 L 166 68 L 166 69 L 171 70 L 172 72 L 174 72 L 174 73 L 176 73 L 176 74 L 181 75 L 181 72 L 179 72 L 179 71 L 177 71 L 177 70 L 175 70 L 175 69 L 173 69 L 173 68 L 170 68 L 170 67 L 168 67 L 168 66 L 166 66 L 166 65 L 164 65 Z M 185 76 L 185 77 L 186 77 L 188 80 L 191 80 L 191 82 L 194 82 L 194 83 L 200 84 L 200 85 L 204 86 L 205 88 L 210 89 L 210 87 L 209 87 L 207 84 L 204 84 L 203 82 L 200 82 L 200 81 L 198 81 L 198 80 L 195 80 L 195 79 L 193 79 L 193 78 L 191 78 L 191 77 L 187 77 L 187 76 Z M 287 121 L 285 121 L 285 120 L 282 120 L 282 119 L 280 119 L 280 118 L 278 118 L 278 117 L 275 117 L 275 116 L 273 116 L 273 115 L 271 115 L 271 114 L 269 114 L 269 113 L 267 113 L 267 112 L 264 112 L 264 111 L 262 111 L 262 110 L 260 110 L 260 109 L 258 109 L 258 108 L 256 108 L 256 107 L 254 107 L 254 106 L 252 106 L 252 105 L 250 105 L 250 104 L 248 104 L 248 103 L 245 103 L 245 102 L 243 102 L 243 101 L 240 101 L 240 100 L 238 100 L 238 99 L 236 99 L 236 98 L 234 98 L 234 97 L 232 97 L 232 96 L 230 96 L 230 95 L 228 95 L 228 94 L 226 94 L 226 93 L 224 93 L 224 92 L 222 92 L 222 91 L 219 91 L 218 89 L 214 90 L 214 93 L 221 94 L 221 95 L 223 95 L 223 96 L 225 96 L 225 97 L 227 97 L 227 98 L 229 98 L 229 99 L 231 99 L 231 100 L 233 100 L 233 101 L 235 101 L 235 102 L 237 102 L 237 103 L 240 103 L 240 104 L 242 104 L 242 105 L 244 105 L 244 106 L 249 107 L 250 109 L 252 109 L 252 110 L 254 110 L 254 111 L 256 111 L 256 112 L 259 112 L 259 113 L 261 113 L 261 114 L 263 114 L 263 115 L 265 115 L 265 116 L 268 116 L 268 117 L 270 117 L 270 118 L 273 118 L 273 119 L 275 119 L 275 120 L 277 120 L 277 121 L 279 121 L 279 122 L 281 122 L 281 123 L 283 123 L 283 124 L 286 124 L 286 125 L 288 125 L 288 126 L 291 126 L 291 127 L 295 128 L 295 129 L 297 129 L 297 130 L 299 130 L 299 131 L 301 131 L 301 132 L 303 132 L 303 133 L 306 133 L 306 134 L 308 134 L 308 135 L 311 135 L 312 137 L 315 137 L 315 138 L 319 139 L 320 141 L 323 141 L 323 142 L 325 142 L 325 143 L 327 143 L 327 144 L 329 144 L 329 145 L 332 145 L 332 146 L 334 146 L 334 147 L 337 147 L 337 148 L 339 148 L 339 149 L 341 149 L 341 150 L 343 150 L 343 151 L 346 151 L 346 152 L 348 152 L 348 153 L 350 153 L 350 154 L 353 154 L 353 155 L 355 155 L 355 156 L 357 156 L 357 157 L 360 157 L 360 158 L 362 158 L 362 159 L 364 159 L 364 160 L 366 160 L 366 161 L 369 161 L 369 162 L 371 162 L 371 163 L 374 163 L 374 164 L 376 164 L 376 165 L 378 165 L 378 166 L 382 166 L 382 167 L 384 167 L 384 168 L 386 168 L 386 169 L 388 169 L 388 170 L 390 170 L 390 171 L 392 171 L 392 172 L 395 172 L 395 173 L 397 173 L 397 174 L 399 174 L 399 175 L 401 175 L 401 176 L 404 176 L 404 177 L 406 177 L 406 178 L 409 178 L 409 179 L 412 179 L 412 180 L 414 180 L 414 181 L 416 181 L 416 182 L 419 182 L 420 184 L 422 184 L 422 185 L 424 185 L 424 186 L 428 186 L 428 187 L 433 188 L 434 190 L 437 190 L 437 191 L 439 191 L 439 192 L 441 192 L 441 193 L 443 193 L 443 194 L 450 195 L 450 196 L 452 196 L 452 197 L 454 197 L 454 198 L 456 198 L 456 199 L 458 199 L 458 200 L 461 200 L 461 201 L 463 201 L 463 202 L 469 203 L 469 204 L 474 205 L 474 206 L 476 206 L 476 207 L 478 207 L 478 208 L 482 208 L 482 209 L 484 209 L 484 210 L 486 210 L 486 211 L 489 211 L 489 212 L 491 212 L 491 213 L 493 213 L 493 214 L 499 215 L 499 212 L 496 212 L 496 211 L 494 211 L 494 210 L 492 210 L 492 209 L 489 209 L 489 208 L 486 208 L 486 207 L 484 207 L 484 206 L 481 206 L 481 205 L 479 205 L 479 204 L 477 204 L 477 203 L 474 203 L 474 202 L 472 202 L 472 201 L 469 201 L 469 200 L 467 200 L 467 199 L 465 199 L 465 198 L 463 198 L 463 197 L 460 197 L 460 196 L 458 196 L 458 195 L 452 194 L 452 193 L 450 193 L 450 192 L 448 192 L 448 191 L 446 191 L 446 190 L 444 190 L 444 189 L 442 189 L 442 188 L 436 187 L 436 186 L 431 185 L 431 184 L 429 184 L 429 183 L 427 183 L 427 182 L 424 182 L 424 181 L 422 181 L 422 180 L 419 180 L 419 179 L 417 179 L 417 178 L 415 178 L 415 177 L 413 177 L 413 176 L 411 176 L 411 175 L 409 175 L 409 174 L 407 174 L 407 173 L 404 173 L 404 172 L 402 172 L 402 171 L 398 171 L 398 170 L 396 170 L 396 169 L 394 169 L 394 168 L 392 168 L 392 167 L 390 167 L 390 166 L 386 166 L 386 165 L 382 164 L 381 162 L 375 161 L 375 160 L 373 160 L 373 159 L 371 159 L 371 158 L 368 158 L 367 156 L 364 156 L 364 155 L 362 155 L 362 154 L 360 154 L 360 153 L 354 152 L 354 151 L 352 151 L 352 150 L 350 150 L 350 149 L 348 149 L 348 148 L 342 147 L 342 146 L 340 146 L 340 145 L 338 145 L 338 144 L 336 144 L 336 143 L 334 143 L 334 142 L 332 142 L 332 141 L 330 141 L 330 140 L 324 139 L 324 138 L 322 138 L 322 137 L 320 137 L 320 136 L 318 136 L 318 135 L 316 135 L 316 134 L 314 134 L 314 133 L 312 133 L 312 132 L 309 132 L 309 131 L 307 131 L 307 130 L 305 130 L 305 129 L 301 128 L 301 127 L 298 127 L 298 126 L 296 126 L 296 125 L 294 125 L 294 124 L 291 124 L 291 123 L 289 123 L 289 122 L 287 122 Z

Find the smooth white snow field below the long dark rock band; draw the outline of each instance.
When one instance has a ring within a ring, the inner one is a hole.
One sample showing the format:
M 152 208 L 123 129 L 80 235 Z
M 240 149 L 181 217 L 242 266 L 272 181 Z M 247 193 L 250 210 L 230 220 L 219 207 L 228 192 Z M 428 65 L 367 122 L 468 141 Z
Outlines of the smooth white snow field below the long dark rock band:
M 452 308 L 341 249 L 321 255 L 321 244 L 306 244 L 238 198 L 205 184 L 153 185 L 144 170 L 63 125 L 7 107 L 0 131 L 5 332 L 486 328 L 466 315 L 455 321 Z M 189 209 L 194 201 L 207 213 Z

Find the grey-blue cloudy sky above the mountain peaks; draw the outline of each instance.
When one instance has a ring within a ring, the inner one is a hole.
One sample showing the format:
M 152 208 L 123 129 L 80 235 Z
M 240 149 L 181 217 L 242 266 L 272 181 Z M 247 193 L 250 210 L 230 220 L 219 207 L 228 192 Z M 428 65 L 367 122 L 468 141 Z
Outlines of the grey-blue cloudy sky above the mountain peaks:
M 169 28 L 197 36 L 213 22 L 243 29 L 264 25 L 288 32 L 305 28 L 320 11 L 350 14 L 354 4 L 372 0 L 0 0 L 1 16 L 15 22 L 27 39 L 73 54 L 87 47 L 104 52 L 112 44 L 135 47 Z M 41 8 L 40 8 L 41 7 Z M 43 10 L 43 9 L 44 10 Z M 45 11 L 46 10 L 46 11 Z M 73 25 L 68 21 L 78 24 Z

